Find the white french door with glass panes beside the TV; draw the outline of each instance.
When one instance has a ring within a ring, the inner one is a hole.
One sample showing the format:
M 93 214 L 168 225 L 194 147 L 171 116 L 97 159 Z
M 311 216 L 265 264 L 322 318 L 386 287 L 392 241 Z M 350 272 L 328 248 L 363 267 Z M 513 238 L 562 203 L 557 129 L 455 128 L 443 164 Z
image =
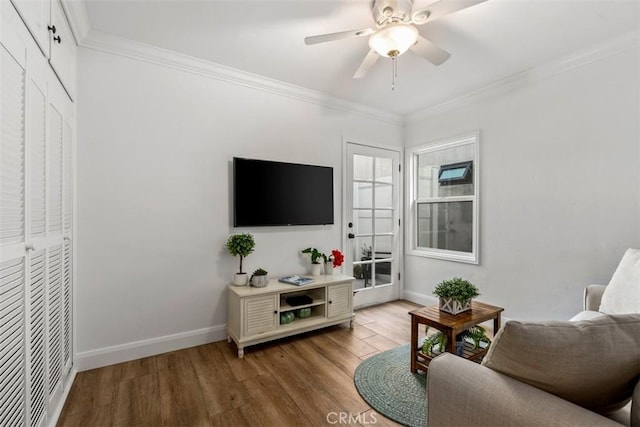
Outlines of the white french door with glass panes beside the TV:
M 346 143 L 345 272 L 354 281 L 354 306 L 399 296 L 400 152 Z

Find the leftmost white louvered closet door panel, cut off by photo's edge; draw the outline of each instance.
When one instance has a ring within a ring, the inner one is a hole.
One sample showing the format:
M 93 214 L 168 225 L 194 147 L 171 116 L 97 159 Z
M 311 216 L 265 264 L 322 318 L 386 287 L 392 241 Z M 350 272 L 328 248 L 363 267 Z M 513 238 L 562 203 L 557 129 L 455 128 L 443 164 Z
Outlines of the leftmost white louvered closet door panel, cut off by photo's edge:
M 4 24 L 4 20 L 2 22 Z M 0 425 L 25 423 L 26 52 L 0 45 Z

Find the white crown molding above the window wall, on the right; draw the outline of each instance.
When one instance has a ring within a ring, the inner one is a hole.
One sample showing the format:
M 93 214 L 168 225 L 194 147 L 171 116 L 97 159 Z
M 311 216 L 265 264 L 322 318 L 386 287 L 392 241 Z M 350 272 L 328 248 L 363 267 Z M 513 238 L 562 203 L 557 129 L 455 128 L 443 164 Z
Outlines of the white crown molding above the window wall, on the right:
M 640 32 L 632 31 L 590 48 L 580 50 L 559 60 L 540 65 L 502 80 L 497 80 L 480 89 L 473 90 L 459 97 L 427 107 L 405 116 L 405 123 L 411 124 L 431 116 L 446 113 L 480 101 L 492 98 L 514 89 L 529 86 L 555 75 L 601 61 L 611 56 L 640 47 Z

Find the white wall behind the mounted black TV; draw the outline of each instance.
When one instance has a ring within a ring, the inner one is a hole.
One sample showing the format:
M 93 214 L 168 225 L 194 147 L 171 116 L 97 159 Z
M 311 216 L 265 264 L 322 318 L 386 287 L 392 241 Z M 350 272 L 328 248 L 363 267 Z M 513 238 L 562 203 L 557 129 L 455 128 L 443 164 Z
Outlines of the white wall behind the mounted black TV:
M 245 270 L 304 273 L 341 246 L 342 136 L 402 144 L 402 128 L 251 87 L 80 49 L 76 361 L 80 369 L 225 337 L 225 288 Z M 234 156 L 332 166 L 333 226 L 234 230 Z

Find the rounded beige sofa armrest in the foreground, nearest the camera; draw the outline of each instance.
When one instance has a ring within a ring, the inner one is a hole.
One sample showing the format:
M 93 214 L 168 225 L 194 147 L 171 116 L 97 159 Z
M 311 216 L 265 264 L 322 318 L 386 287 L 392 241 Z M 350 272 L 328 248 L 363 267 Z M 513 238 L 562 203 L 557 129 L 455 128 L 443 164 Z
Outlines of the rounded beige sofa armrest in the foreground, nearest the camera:
M 443 353 L 427 372 L 429 427 L 620 426 L 475 362 Z

